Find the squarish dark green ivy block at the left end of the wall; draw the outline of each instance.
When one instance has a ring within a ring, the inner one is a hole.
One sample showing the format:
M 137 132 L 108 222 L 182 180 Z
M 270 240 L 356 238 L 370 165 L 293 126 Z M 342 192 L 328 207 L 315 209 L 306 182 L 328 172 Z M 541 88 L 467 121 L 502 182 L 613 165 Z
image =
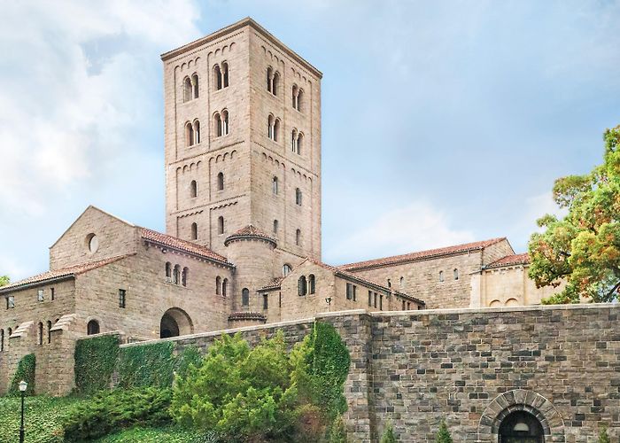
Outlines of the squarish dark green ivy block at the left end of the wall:
M 119 355 L 119 337 L 83 338 L 75 345 L 75 391 L 91 394 L 110 387 Z

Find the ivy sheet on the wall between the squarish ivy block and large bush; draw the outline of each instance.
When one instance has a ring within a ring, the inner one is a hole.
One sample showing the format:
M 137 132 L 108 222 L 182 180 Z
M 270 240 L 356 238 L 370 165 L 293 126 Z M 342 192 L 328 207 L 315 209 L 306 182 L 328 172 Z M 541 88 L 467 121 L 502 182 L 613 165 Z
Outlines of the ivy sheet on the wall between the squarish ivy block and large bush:
M 123 347 L 118 365 L 119 387 L 170 387 L 175 372 L 184 375 L 190 363 L 199 366 L 201 360 L 194 346 L 175 356 L 172 342 Z

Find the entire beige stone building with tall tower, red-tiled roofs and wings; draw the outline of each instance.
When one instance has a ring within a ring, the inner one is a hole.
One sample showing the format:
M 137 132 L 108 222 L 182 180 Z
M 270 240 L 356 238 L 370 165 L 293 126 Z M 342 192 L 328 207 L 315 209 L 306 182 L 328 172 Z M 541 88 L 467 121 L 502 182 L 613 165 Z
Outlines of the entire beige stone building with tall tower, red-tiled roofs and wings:
M 89 206 L 50 247 L 48 272 L 0 288 L 0 392 L 30 353 L 37 391 L 67 392 L 74 340 L 89 334 L 135 342 L 549 295 L 506 238 L 322 263 L 322 73 L 252 19 L 161 58 L 167 233 Z

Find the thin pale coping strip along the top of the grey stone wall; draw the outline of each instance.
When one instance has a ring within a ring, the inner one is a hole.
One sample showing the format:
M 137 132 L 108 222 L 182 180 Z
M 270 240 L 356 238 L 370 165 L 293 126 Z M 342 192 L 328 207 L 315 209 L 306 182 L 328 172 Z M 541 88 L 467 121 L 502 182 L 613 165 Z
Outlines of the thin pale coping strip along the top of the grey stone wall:
M 284 326 L 291 326 L 295 324 L 305 324 L 305 323 L 314 323 L 317 320 L 321 320 L 322 318 L 331 318 L 331 317 L 345 317 L 352 315 L 368 315 L 370 317 L 385 317 L 392 315 L 449 315 L 449 314 L 484 314 L 484 313 L 509 313 L 509 312 L 523 312 L 523 311 L 569 311 L 569 310 L 577 310 L 577 309 L 605 309 L 605 308 L 614 308 L 620 311 L 620 303 L 583 303 L 583 304 L 575 304 L 575 305 L 536 305 L 536 306 L 522 306 L 522 307 L 466 307 L 466 308 L 458 308 L 458 309 L 416 309 L 411 311 L 379 311 L 379 312 L 369 312 L 366 309 L 350 309 L 347 311 L 334 311 L 334 312 L 323 312 L 314 317 L 306 317 L 298 320 L 290 320 L 288 322 L 278 322 L 278 323 L 266 323 L 260 325 L 252 325 L 252 326 L 244 326 L 241 328 L 229 328 L 226 330 L 211 330 L 209 332 L 198 332 L 196 334 L 188 334 L 182 335 L 178 337 L 170 337 L 170 338 L 154 338 L 151 340 L 139 341 L 135 343 L 126 343 L 120 345 L 120 347 L 131 347 L 131 346 L 143 346 L 143 345 L 152 345 L 156 343 L 164 343 L 168 341 L 182 341 L 182 340 L 190 340 L 193 338 L 207 338 L 207 337 L 217 337 L 224 334 L 233 335 L 236 332 L 246 332 L 250 330 L 268 330 L 273 328 L 282 328 Z M 88 336 L 93 337 L 93 336 Z

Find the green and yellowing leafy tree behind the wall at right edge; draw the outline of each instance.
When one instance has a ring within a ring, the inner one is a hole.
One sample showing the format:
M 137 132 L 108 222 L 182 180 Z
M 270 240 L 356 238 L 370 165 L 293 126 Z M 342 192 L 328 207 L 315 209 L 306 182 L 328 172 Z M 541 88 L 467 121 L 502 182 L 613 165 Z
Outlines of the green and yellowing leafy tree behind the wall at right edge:
M 587 175 L 554 183 L 554 200 L 567 210 L 559 219 L 546 214 L 529 244 L 529 276 L 538 287 L 566 286 L 543 303 L 618 299 L 620 288 L 620 125 L 603 136 L 603 163 Z

